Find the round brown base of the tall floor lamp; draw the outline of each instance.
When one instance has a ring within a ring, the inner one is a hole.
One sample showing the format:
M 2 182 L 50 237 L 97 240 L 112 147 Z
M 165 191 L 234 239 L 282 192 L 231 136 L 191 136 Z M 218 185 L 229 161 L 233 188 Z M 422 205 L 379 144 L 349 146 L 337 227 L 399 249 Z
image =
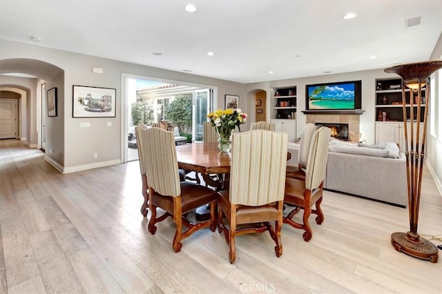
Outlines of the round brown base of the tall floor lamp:
M 392 245 L 398 252 L 436 263 L 439 257 L 437 247 L 432 242 L 422 239 L 418 234 L 392 233 Z

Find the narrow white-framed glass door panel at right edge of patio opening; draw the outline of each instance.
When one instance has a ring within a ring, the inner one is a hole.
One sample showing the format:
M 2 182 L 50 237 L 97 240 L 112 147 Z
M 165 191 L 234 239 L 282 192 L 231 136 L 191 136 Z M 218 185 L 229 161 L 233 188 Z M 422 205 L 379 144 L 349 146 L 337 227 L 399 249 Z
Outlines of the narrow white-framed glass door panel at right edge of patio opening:
M 207 121 L 207 115 L 213 108 L 211 106 L 211 90 L 195 90 L 193 94 L 193 141 L 202 141 L 202 123 Z

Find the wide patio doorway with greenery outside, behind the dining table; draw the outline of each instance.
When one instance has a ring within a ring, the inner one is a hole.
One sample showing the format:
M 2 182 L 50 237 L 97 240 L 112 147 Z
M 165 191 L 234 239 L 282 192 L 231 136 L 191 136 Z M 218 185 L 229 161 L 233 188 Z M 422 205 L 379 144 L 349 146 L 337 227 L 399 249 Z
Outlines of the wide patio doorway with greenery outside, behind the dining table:
M 188 143 L 202 141 L 203 122 L 214 109 L 216 88 L 127 75 L 124 79 L 124 162 L 138 159 L 135 126 L 169 121 Z

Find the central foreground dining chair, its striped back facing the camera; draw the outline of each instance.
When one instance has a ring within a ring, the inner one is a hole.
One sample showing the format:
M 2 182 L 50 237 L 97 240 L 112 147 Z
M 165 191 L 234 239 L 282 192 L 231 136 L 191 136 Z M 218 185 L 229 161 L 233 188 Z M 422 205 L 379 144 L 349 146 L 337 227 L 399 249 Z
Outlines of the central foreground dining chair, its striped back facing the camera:
M 281 227 L 287 164 L 287 133 L 251 130 L 233 134 L 229 190 L 218 196 L 218 228 L 235 262 L 235 237 L 269 231 L 282 254 Z M 229 223 L 224 225 L 223 216 Z M 270 222 L 275 222 L 275 227 Z

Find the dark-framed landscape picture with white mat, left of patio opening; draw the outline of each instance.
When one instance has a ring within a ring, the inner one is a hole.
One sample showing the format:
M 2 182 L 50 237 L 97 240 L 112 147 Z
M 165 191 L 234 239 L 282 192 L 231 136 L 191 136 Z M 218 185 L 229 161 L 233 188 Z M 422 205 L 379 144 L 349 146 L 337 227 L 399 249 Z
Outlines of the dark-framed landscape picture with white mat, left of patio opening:
M 115 117 L 113 88 L 73 86 L 72 117 Z

